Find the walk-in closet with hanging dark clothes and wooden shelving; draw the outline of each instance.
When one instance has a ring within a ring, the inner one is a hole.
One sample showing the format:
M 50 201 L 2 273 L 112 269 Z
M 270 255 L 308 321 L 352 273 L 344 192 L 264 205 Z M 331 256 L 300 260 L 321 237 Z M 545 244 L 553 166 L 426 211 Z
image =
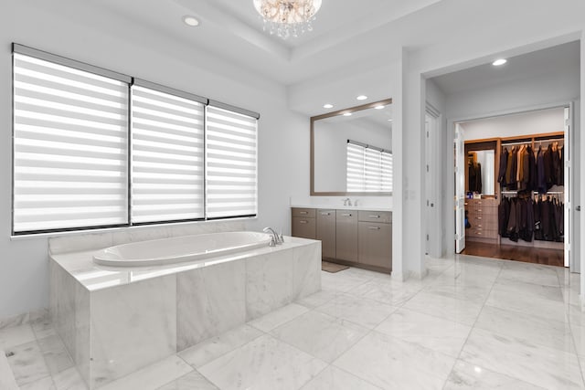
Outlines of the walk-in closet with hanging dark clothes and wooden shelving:
M 464 254 L 565 267 L 569 107 L 458 123 Z

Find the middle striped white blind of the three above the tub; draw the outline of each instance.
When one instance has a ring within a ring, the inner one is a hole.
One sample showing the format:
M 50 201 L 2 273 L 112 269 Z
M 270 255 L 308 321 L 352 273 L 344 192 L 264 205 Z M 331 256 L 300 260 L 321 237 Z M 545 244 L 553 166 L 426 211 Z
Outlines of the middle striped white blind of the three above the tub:
M 132 87 L 132 222 L 203 218 L 204 115 L 197 101 Z

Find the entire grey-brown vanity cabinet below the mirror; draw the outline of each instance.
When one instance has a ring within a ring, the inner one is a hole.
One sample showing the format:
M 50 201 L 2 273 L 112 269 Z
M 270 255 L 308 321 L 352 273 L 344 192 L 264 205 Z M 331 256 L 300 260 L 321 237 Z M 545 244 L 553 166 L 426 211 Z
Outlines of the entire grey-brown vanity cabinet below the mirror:
M 389 211 L 295 207 L 293 236 L 320 240 L 322 258 L 328 261 L 382 272 L 392 270 Z

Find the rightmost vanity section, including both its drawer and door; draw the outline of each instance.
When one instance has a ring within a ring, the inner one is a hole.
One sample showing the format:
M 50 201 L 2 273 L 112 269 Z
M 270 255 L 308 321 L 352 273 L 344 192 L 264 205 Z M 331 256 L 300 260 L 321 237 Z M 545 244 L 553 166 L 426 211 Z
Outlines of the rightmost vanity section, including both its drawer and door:
M 379 269 L 392 269 L 392 214 L 360 211 L 357 222 L 358 261 Z

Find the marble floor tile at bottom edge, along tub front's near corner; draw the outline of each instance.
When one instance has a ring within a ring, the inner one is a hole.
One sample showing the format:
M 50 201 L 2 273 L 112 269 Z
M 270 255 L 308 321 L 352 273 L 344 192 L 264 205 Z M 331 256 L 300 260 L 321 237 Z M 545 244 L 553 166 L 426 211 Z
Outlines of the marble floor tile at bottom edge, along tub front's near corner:
M 100 390 L 155 390 L 192 371 L 193 367 L 186 364 L 180 357 L 173 355 L 104 385 L 100 387 Z

